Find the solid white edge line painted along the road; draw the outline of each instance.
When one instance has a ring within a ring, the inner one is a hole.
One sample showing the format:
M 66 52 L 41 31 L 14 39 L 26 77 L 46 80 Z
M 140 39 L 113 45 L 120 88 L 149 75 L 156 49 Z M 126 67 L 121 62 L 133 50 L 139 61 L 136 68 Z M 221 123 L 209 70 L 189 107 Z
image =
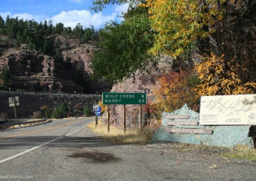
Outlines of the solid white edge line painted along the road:
M 20 152 L 19 154 L 16 154 L 16 155 L 14 155 L 14 156 L 8 157 L 8 158 L 6 158 L 6 159 L 2 159 L 2 160 L 0 160 L 0 164 L 1 164 L 1 163 L 4 163 L 4 162 L 6 162 L 6 161 L 10 161 L 11 159 L 14 159 L 15 157 L 19 157 L 19 156 L 22 156 L 22 155 L 24 155 L 24 154 L 26 154 L 26 153 L 28 153 L 28 152 L 31 152 L 31 151 L 33 151 L 33 150 L 36 150 L 37 148 L 40 148 L 40 147 L 42 147 L 42 146 L 44 146 L 44 145 L 47 145 L 47 144 L 49 144 L 49 143 L 51 143 L 51 142 L 53 142 L 53 141 L 59 140 L 59 139 L 65 137 L 65 136 L 70 136 L 71 134 L 76 133 L 76 132 L 79 131 L 80 129 L 83 129 L 83 128 L 86 127 L 87 125 L 88 125 L 88 123 L 85 124 L 83 127 L 80 127 L 79 129 L 77 129 L 77 130 L 75 130 L 75 131 L 73 131 L 73 132 L 71 132 L 71 133 L 65 134 L 64 136 L 60 136 L 60 137 L 58 137 L 58 138 L 55 138 L 54 140 L 47 141 L 46 143 L 43 143 L 43 144 L 38 145 L 38 146 L 36 146 L 36 147 L 30 148 L 30 149 L 28 149 L 28 150 L 25 150 L 24 152 Z

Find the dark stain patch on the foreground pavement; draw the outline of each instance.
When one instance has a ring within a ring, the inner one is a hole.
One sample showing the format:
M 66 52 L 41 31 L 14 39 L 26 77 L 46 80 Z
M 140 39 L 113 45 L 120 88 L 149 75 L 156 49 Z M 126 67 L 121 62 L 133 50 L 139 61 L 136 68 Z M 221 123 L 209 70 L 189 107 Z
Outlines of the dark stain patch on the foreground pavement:
M 86 163 L 113 163 L 119 162 L 122 159 L 119 157 L 115 157 L 113 154 L 103 152 L 74 153 L 68 157 L 85 158 Z

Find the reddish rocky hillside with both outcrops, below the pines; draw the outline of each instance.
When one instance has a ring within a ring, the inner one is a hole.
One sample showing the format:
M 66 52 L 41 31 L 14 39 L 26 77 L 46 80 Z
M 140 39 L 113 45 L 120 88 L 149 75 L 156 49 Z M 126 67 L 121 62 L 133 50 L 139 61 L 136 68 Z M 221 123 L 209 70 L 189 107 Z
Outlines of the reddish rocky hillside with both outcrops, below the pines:
M 4 66 L 8 68 L 11 91 L 96 93 L 110 90 L 106 83 L 90 78 L 89 61 L 96 50 L 93 45 L 62 36 L 54 39 L 61 40 L 63 62 L 42 52 L 28 50 L 27 45 L 13 48 L 12 42 L 8 45 L 1 39 L 0 71 Z

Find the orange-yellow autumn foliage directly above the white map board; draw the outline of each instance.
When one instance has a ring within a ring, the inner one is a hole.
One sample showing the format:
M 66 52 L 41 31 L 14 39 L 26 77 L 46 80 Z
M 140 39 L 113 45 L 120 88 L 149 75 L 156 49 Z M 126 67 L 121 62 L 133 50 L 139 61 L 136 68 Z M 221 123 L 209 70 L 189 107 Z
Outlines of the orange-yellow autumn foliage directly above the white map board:
M 195 68 L 200 79 L 198 94 L 200 96 L 253 94 L 256 92 L 255 82 L 243 82 L 241 65 L 236 58 L 229 61 L 225 56 L 211 54 L 204 57 Z

